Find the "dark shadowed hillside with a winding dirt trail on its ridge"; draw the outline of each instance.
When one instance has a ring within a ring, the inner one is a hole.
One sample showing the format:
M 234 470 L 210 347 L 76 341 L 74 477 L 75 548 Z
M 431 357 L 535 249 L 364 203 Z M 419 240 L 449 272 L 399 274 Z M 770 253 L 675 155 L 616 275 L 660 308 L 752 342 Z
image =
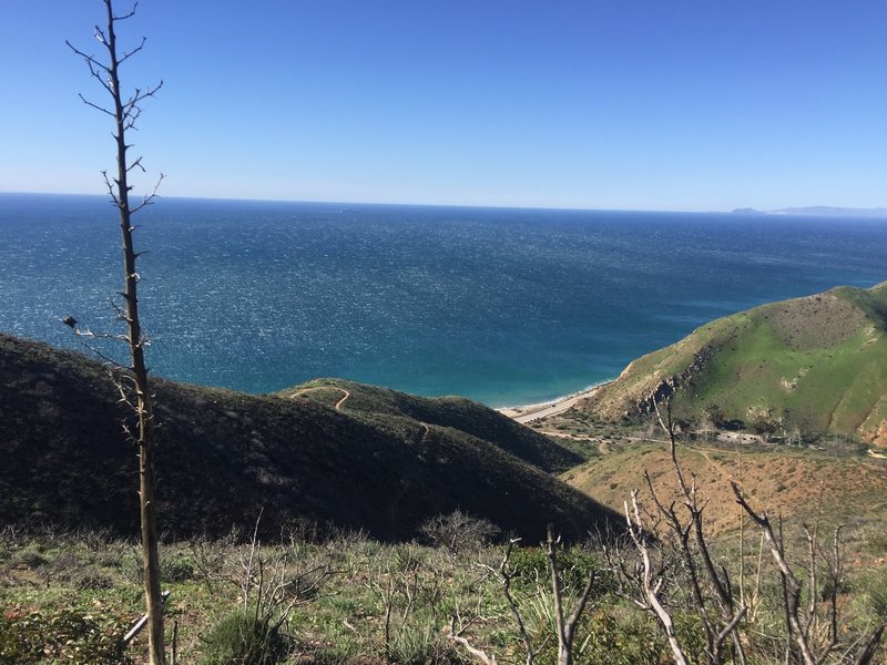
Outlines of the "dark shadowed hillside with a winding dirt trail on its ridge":
M 613 513 L 549 474 L 573 454 L 480 405 L 319 381 L 252 396 L 155 380 L 162 529 L 310 521 L 410 538 L 460 509 L 538 539 Z M 135 449 L 105 369 L 0 335 L 0 518 L 134 533 Z M 618 522 L 616 518 L 616 522 Z

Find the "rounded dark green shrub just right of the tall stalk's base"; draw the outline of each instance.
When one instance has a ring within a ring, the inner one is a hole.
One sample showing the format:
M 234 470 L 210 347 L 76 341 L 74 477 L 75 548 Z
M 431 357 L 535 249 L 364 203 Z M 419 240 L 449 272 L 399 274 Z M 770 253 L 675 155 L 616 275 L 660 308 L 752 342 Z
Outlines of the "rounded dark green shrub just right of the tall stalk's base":
M 204 637 L 203 665 L 276 665 L 286 658 L 289 641 L 269 617 L 235 610 Z

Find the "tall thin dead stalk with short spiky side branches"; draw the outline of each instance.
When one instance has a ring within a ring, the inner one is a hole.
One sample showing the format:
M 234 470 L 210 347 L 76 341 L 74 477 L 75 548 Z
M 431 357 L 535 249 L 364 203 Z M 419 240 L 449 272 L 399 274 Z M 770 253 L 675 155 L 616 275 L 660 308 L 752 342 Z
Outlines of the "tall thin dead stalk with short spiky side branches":
M 130 174 L 133 170 L 144 172 L 142 157 L 130 160 L 126 143 L 126 132 L 135 130 L 135 124 L 142 114 L 142 102 L 160 90 L 163 82 L 145 89 L 135 88 L 124 96 L 121 91 L 120 68 L 130 58 L 139 53 L 145 44 L 145 38 L 131 50 L 118 49 L 116 25 L 135 14 L 137 2 L 125 14 L 114 13 L 112 0 L 102 0 L 105 6 L 105 28 L 95 25 L 94 37 L 105 50 L 106 59 L 98 59 L 84 51 L 74 48 L 70 42 L 68 47 L 86 63 L 90 74 L 95 79 L 111 98 L 110 105 L 94 103 L 82 94 L 80 99 L 86 105 L 105 113 L 114 122 L 114 142 L 116 144 L 118 170 L 115 176 L 102 172 L 104 183 L 113 205 L 120 212 L 120 232 L 123 241 L 124 263 L 124 290 L 123 306 L 118 307 L 118 315 L 126 323 L 125 341 L 130 350 L 131 364 L 128 371 L 121 375 L 121 398 L 135 413 L 136 430 L 126 428 L 126 433 L 135 440 L 139 447 L 139 499 L 142 532 L 142 565 L 144 569 L 145 604 L 147 608 L 147 642 L 152 665 L 163 665 L 165 662 L 164 634 L 163 634 L 163 605 L 160 590 L 160 565 L 157 557 L 157 519 L 156 502 L 154 500 L 154 467 L 153 454 L 155 448 L 154 419 L 152 412 L 152 396 L 147 380 L 147 367 L 144 359 L 145 338 L 139 319 L 139 273 L 135 262 L 139 254 L 133 245 L 132 216 L 150 205 L 156 196 L 157 187 L 132 204 L 130 201 Z M 163 180 L 163 175 L 161 175 Z M 157 182 L 160 185 L 160 181 Z

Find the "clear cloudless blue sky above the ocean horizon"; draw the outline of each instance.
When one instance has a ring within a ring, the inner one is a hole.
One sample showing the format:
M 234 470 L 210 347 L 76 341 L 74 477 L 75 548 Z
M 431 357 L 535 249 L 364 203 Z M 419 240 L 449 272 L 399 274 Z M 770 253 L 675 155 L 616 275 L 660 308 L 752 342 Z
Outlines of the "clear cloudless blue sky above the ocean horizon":
M 0 191 L 102 193 L 64 45 L 102 18 L 0 0 Z M 887 205 L 885 0 L 142 0 L 120 33 L 124 84 L 164 82 L 132 141 L 169 196 Z

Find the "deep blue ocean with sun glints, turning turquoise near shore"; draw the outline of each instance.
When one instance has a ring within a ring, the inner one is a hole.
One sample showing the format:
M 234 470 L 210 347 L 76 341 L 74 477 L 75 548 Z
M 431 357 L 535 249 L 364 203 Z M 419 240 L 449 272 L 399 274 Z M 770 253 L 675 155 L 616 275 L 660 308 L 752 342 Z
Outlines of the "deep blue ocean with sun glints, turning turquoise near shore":
M 155 375 L 345 377 L 500 407 L 613 378 L 718 316 L 887 279 L 887 221 L 162 198 L 136 248 Z M 0 194 L 0 331 L 118 331 L 115 209 Z

